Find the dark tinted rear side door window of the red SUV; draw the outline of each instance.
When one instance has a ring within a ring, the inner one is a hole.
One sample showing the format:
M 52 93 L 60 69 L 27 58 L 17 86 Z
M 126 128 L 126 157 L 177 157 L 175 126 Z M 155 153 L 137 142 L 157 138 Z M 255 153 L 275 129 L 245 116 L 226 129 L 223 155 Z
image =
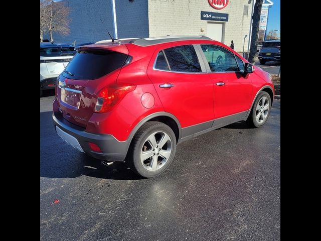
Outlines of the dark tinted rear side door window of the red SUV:
M 164 50 L 172 71 L 201 72 L 193 45 L 177 46 Z

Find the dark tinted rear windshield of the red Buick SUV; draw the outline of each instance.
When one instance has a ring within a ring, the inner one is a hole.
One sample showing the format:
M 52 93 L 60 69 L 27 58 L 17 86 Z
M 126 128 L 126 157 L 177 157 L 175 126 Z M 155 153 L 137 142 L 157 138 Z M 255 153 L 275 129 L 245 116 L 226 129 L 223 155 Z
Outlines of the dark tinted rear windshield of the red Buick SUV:
M 97 79 L 120 68 L 126 58 L 126 54 L 109 50 L 79 50 L 63 76 L 78 80 Z

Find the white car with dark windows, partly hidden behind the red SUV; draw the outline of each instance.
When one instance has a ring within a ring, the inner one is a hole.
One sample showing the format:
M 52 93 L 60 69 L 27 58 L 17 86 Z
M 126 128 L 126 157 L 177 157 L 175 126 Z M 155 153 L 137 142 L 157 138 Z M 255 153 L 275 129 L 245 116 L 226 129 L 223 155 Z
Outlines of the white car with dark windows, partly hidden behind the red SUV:
M 44 89 L 54 89 L 58 75 L 77 51 L 70 44 L 40 43 L 40 96 Z

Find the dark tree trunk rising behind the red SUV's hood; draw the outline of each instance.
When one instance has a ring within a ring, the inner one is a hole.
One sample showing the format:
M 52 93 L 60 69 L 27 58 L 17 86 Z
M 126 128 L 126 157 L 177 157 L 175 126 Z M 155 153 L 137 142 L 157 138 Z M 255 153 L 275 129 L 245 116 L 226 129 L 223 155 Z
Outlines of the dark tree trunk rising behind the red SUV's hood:
M 262 10 L 262 4 L 264 0 L 256 0 L 254 5 L 254 12 L 252 16 L 252 33 L 251 33 L 251 48 L 249 53 L 249 62 L 251 64 L 255 63 L 255 54 L 257 49 L 257 39 L 259 35 L 259 26 L 260 26 L 260 16 L 261 16 L 261 10 Z

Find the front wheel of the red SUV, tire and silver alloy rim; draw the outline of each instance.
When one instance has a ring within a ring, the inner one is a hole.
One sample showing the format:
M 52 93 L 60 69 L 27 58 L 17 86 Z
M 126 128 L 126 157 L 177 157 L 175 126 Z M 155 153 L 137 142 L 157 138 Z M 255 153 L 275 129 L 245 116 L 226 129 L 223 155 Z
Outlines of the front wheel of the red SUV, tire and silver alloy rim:
M 262 127 L 266 123 L 267 118 L 270 115 L 270 111 L 271 111 L 271 97 L 267 92 L 262 91 L 256 97 L 254 104 L 252 106 L 251 112 L 246 120 L 246 123 L 251 127 L 255 127 L 255 128 Z

